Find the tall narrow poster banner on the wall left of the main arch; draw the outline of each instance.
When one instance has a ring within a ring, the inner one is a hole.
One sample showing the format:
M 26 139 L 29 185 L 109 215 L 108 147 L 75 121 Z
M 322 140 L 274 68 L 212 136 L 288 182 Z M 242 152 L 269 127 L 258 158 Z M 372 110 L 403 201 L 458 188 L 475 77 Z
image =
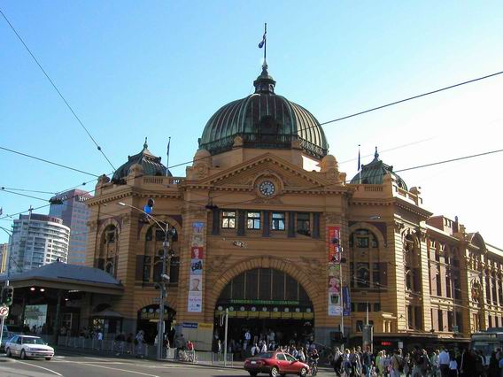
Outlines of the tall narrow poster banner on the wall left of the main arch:
M 188 312 L 203 312 L 203 267 L 205 265 L 204 222 L 192 223 L 190 239 L 190 271 Z

